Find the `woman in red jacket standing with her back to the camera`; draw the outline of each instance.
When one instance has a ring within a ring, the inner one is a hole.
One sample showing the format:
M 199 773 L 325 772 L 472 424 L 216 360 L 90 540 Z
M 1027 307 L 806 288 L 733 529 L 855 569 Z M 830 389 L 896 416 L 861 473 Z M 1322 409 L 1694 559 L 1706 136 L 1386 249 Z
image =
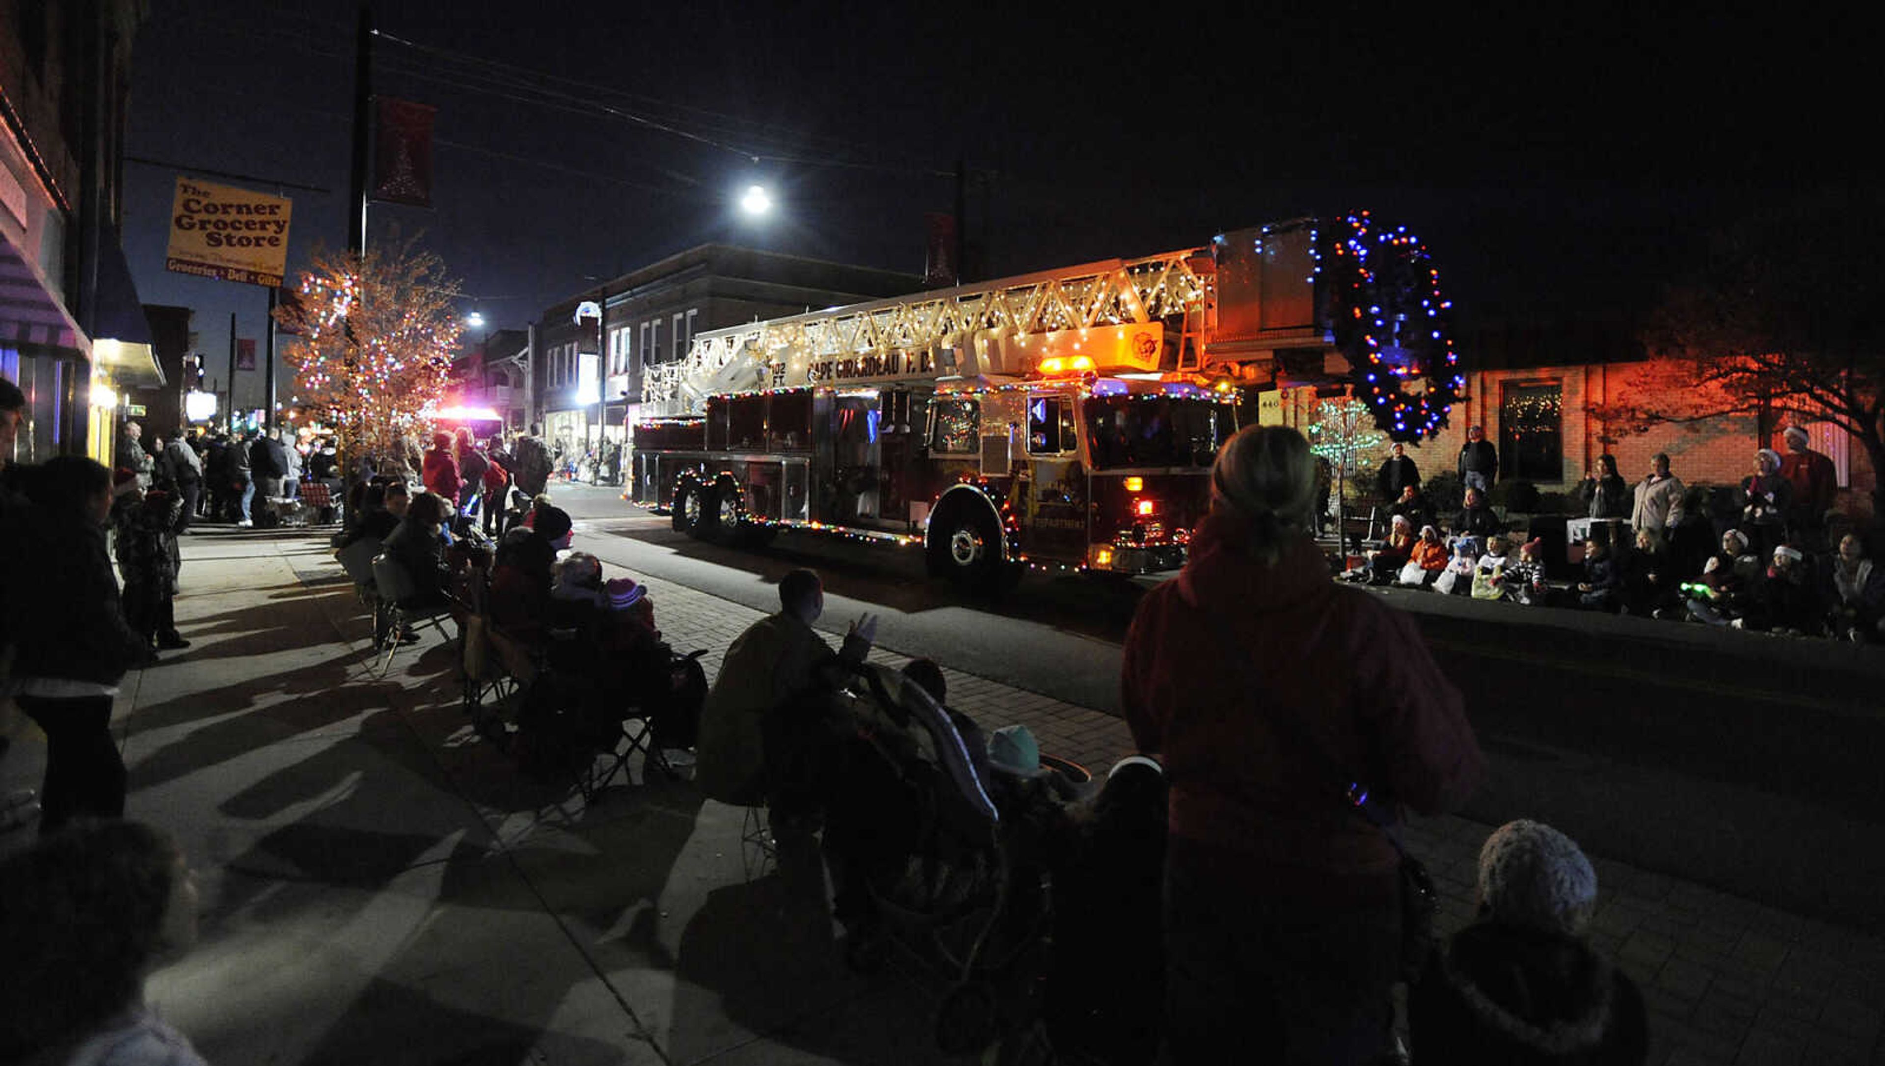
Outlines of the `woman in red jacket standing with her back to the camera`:
M 1391 1047 L 1399 855 L 1352 782 L 1423 814 L 1483 757 L 1406 614 L 1329 578 L 1316 473 L 1284 426 L 1237 433 L 1176 580 L 1125 637 L 1122 706 L 1171 774 L 1167 1034 L 1176 1062 L 1365 1062 Z

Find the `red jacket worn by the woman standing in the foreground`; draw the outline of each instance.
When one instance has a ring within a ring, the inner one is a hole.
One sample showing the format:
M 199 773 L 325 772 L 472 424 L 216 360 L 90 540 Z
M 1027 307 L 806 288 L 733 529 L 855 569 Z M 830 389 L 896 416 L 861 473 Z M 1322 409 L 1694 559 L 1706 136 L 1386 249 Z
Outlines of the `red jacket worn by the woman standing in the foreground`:
M 1342 802 L 1348 780 L 1434 814 L 1465 802 L 1485 759 L 1406 614 L 1333 582 L 1306 537 L 1272 567 L 1244 537 L 1231 514 L 1199 524 L 1125 637 L 1122 706 L 1165 759 L 1172 859 L 1310 906 L 1380 902 L 1397 853 Z M 1270 725 L 1284 714 L 1293 733 Z

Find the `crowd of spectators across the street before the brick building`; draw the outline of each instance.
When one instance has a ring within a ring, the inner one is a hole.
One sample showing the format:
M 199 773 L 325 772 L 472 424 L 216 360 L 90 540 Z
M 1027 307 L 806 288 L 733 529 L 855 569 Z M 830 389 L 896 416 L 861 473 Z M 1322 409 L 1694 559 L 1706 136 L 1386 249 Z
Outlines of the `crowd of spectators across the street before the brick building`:
M 1542 537 L 1519 539 L 1489 507 L 1497 452 L 1483 433 L 1468 431 L 1461 448 L 1468 484 L 1444 529 L 1429 524 L 1419 469 L 1397 444 L 1376 475 L 1387 531 L 1344 576 L 1529 606 L 1885 642 L 1885 573 L 1874 567 L 1864 531 L 1836 525 L 1832 461 L 1810 448 L 1804 429 L 1789 428 L 1783 441 L 1785 454 L 1761 448 L 1740 486 L 1719 490 L 1683 486 L 1666 454 L 1634 486 L 1615 456 L 1598 456 L 1574 492 L 1589 535 L 1561 559 L 1572 573 L 1546 559 Z

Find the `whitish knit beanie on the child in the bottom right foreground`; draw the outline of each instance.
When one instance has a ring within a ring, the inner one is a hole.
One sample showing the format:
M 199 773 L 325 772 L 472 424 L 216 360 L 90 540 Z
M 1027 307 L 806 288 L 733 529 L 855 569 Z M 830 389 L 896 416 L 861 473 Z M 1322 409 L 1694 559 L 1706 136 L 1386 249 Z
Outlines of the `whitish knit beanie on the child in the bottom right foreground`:
M 1542 821 L 1508 821 L 1480 848 L 1480 908 L 1495 921 L 1578 936 L 1597 906 L 1597 870 Z

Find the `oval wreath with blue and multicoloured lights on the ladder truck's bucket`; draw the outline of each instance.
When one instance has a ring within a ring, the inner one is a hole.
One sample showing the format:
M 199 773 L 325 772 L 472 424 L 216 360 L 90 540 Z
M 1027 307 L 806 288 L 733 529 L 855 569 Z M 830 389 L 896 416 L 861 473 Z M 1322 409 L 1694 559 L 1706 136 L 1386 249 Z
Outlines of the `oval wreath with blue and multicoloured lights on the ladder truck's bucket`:
M 1438 433 L 1467 377 L 1453 350 L 1453 303 L 1440 296 L 1427 247 L 1406 226 L 1353 211 L 1320 220 L 1312 249 L 1321 318 L 1348 358 L 1355 399 L 1391 441 Z

